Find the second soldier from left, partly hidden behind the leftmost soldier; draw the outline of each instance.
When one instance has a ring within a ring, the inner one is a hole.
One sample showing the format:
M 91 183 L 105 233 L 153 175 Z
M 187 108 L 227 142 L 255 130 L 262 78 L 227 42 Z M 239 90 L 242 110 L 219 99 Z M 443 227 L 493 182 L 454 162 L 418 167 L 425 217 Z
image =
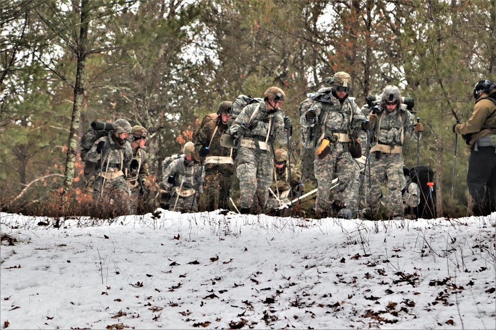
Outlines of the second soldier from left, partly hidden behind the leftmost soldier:
M 131 189 L 131 196 L 133 197 L 133 202 L 139 208 L 145 198 L 148 196 L 150 187 L 148 175 L 150 171 L 148 169 L 148 155 L 145 151 L 146 138 L 148 136 L 148 131 L 143 126 L 133 126 L 131 129 L 131 149 L 132 156 L 136 159 L 135 163 L 138 166 L 137 169 L 131 169 L 130 175 L 127 177 L 127 185 Z M 131 164 L 132 167 L 132 164 Z M 141 180 L 141 181 L 140 181 Z M 139 213 L 139 212 L 138 212 Z

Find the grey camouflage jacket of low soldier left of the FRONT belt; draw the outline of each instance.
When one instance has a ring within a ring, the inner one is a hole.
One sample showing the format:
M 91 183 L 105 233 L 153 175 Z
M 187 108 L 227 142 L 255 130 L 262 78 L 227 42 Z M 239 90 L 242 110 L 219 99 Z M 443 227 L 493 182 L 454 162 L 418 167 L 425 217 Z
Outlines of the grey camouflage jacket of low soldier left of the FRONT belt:
M 193 160 L 189 162 L 186 161 L 186 156 L 182 154 L 178 159 L 173 160 L 172 163 L 170 163 L 169 166 L 164 170 L 164 185 L 168 186 L 168 178 L 170 176 L 174 176 L 174 178 L 176 179 L 174 182 L 175 187 L 181 187 L 181 183 L 183 182 L 183 189 L 196 189 L 200 171 L 200 164 Z

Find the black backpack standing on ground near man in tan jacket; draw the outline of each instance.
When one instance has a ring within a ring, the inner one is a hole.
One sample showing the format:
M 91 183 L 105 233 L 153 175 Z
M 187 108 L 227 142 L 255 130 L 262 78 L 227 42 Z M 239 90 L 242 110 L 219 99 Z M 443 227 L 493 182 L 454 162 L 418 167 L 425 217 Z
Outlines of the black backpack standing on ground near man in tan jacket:
M 419 185 L 420 203 L 413 208 L 417 218 L 436 218 L 436 184 L 434 182 L 434 171 L 429 166 L 415 166 L 410 170 L 410 181 Z M 407 188 L 409 183 L 407 182 Z

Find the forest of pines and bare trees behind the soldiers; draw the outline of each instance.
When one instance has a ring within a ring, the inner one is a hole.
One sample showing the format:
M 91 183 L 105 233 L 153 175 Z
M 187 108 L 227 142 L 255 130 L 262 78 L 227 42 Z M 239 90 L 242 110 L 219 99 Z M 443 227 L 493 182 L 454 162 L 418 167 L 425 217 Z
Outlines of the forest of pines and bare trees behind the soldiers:
M 467 121 L 475 83 L 496 79 L 496 0 L 2 0 L 0 38 L 2 211 L 88 205 L 78 141 L 94 120 L 146 127 L 156 182 L 205 114 L 269 86 L 299 167 L 300 102 L 346 71 L 360 107 L 388 84 L 415 99 L 424 134 L 405 164 L 434 169 L 438 215 L 470 214 L 452 112 Z

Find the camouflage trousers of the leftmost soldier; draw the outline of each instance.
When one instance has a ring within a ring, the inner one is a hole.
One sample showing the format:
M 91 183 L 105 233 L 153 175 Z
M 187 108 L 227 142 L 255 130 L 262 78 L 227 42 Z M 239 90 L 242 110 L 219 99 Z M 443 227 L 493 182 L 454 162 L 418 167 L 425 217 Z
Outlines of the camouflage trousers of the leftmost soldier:
M 113 208 L 117 214 L 130 214 L 131 191 L 124 176 L 105 181 L 102 177 L 95 177 L 93 203 L 95 207 Z

